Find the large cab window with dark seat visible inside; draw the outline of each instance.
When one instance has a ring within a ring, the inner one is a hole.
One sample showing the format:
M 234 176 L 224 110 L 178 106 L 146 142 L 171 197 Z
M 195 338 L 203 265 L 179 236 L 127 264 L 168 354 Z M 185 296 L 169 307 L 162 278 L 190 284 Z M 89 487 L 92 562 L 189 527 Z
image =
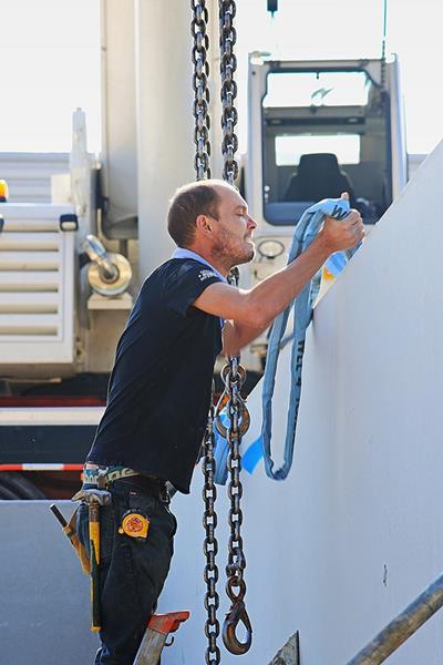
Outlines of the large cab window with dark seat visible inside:
M 391 203 L 389 98 L 363 70 L 272 71 L 261 116 L 267 222 L 344 191 L 369 224 Z

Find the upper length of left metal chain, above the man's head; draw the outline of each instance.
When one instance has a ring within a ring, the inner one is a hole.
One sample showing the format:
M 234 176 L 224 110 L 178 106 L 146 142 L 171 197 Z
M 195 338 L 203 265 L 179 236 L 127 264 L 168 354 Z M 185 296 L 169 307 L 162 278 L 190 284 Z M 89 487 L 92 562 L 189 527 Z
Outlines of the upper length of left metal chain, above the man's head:
M 209 38 L 206 33 L 206 23 L 208 20 L 208 11 L 206 8 L 206 0 L 190 0 L 190 7 L 193 9 L 193 20 L 190 23 L 190 32 L 194 37 L 194 47 L 193 47 L 193 63 L 194 63 L 193 88 L 194 88 L 194 92 L 195 92 L 194 143 L 196 145 L 194 167 L 197 173 L 197 181 L 198 181 L 198 180 L 204 180 L 205 177 L 210 177 L 210 167 L 209 167 L 210 121 L 209 121 L 209 114 L 208 114 L 209 63 L 206 59 L 206 54 L 207 54 L 207 51 L 209 48 Z

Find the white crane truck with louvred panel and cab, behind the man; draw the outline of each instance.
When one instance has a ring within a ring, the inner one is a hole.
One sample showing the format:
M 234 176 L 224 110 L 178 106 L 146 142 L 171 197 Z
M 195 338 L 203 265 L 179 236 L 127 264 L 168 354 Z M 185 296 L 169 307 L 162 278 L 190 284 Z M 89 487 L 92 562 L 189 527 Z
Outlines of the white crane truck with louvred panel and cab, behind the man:
M 143 88 L 150 68 L 158 83 L 167 65 L 153 73 L 152 54 L 138 53 L 134 95 L 126 39 L 134 17 L 113 2 L 102 12 L 103 153 L 87 152 L 79 109 L 68 173 L 52 178 L 51 201 L 11 196 L 0 204 L 0 499 L 75 491 L 138 285 L 171 248 L 165 232 L 146 223 L 165 211 L 164 197 L 154 198 L 159 185 L 147 177 L 155 160 L 162 168 L 158 131 L 151 152 L 142 150 L 153 113 L 156 122 L 165 113 L 178 117 L 171 99 L 152 104 L 152 80 Z M 152 32 L 151 19 L 138 17 L 145 31 Z M 183 71 L 175 75 L 168 94 L 178 102 L 185 83 Z M 408 180 L 396 59 L 282 61 L 253 52 L 247 85 L 248 149 L 238 186 L 258 225 L 256 257 L 240 270 L 246 288 L 285 265 L 295 225 L 313 202 L 348 191 L 370 228 Z M 190 113 L 186 122 L 188 129 Z M 183 126 L 161 129 L 167 152 Z M 174 157 L 192 166 L 187 144 Z M 172 171 L 162 181 L 169 196 L 184 173 L 192 177 L 190 167 Z M 262 374 L 266 346 L 264 335 L 243 356 L 250 386 Z

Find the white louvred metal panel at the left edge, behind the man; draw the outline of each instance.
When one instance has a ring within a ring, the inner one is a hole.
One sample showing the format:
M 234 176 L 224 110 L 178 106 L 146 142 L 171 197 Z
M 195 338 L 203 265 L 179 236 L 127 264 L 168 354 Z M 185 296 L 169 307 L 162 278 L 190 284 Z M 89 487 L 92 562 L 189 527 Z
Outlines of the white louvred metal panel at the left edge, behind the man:
M 72 364 L 74 232 L 59 219 L 72 207 L 4 204 L 0 234 L 0 362 Z

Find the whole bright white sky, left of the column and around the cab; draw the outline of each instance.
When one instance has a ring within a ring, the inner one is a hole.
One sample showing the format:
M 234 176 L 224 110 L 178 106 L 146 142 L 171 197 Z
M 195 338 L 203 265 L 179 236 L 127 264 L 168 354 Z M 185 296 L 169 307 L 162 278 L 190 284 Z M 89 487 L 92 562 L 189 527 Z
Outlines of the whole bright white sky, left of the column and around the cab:
M 400 59 L 410 153 L 430 152 L 443 135 L 442 23 L 441 0 L 388 0 L 387 53 Z M 279 0 L 274 19 L 266 0 L 238 0 L 236 27 L 241 151 L 248 52 L 379 57 L 383 0 Z M 76 106 L 89 149 L 100 152 L 99 0 L 0 0 L 0 152 L 69 151 Z

